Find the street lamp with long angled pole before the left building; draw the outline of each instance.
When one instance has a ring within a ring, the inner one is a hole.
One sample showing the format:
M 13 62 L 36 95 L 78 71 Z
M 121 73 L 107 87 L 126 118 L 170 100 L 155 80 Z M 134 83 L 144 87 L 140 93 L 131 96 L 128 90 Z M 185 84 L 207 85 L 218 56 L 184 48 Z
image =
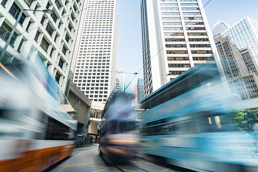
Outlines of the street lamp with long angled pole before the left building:
M 21 18 L 21 15 L 22 15 L 23 11 L 42 11 L 42 12 L 44 12 L 44 13 L 53 14 L 53 10 L 49 10 L 49 9 L 48 9 L 48 10 L 30 10 L 30 9 L 27 10 L 27 9 L 23 9 L 23 8 L 22 8 L 21 11 L 20 11 L 20 14 L 19 14 L 18 18 L 16 19 L 16 22 L 15 22 L 15 24 L 14 24 L 14 27 L 13 27 L 11 33 L 10 33 L 10 36 L 9 36 L 9 38 L 7 39 L 5 48 L 4 48 L 4 50 L 2 51 L 2 53 L 1 53 L 0 62 L 2 61 L 2 59 L 3 59 L 3 57 L 4 57 L 5 53 L 6 53 L 6 49 L 7 49 L 8 45 L 9 45 L 9 43 L 10 43 L 12 37 L 13 37 L 14 31 L 15 31 L 16 26 L 17 26 L 17 24 L 18 24 L 18 22 L 19 22 L 19 20 L 20 20 L 20 18 Z

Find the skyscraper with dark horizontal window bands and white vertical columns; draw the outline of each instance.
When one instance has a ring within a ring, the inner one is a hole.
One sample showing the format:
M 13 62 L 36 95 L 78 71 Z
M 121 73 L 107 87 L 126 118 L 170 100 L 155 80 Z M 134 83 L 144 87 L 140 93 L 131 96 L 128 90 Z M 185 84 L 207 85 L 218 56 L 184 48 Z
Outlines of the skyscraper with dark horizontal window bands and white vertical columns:
M 200 63 L 218 65 L 201 0 L 141 0 L 144 95 Z

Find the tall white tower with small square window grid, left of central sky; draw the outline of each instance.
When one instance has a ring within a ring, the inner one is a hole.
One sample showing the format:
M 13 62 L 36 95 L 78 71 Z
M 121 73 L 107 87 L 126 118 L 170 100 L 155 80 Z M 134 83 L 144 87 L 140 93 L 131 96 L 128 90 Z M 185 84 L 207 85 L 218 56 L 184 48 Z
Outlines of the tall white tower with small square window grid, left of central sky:
M 115 91 L 118 48 L 116 0 L 88 0 L 73 82 L 93 101 Z

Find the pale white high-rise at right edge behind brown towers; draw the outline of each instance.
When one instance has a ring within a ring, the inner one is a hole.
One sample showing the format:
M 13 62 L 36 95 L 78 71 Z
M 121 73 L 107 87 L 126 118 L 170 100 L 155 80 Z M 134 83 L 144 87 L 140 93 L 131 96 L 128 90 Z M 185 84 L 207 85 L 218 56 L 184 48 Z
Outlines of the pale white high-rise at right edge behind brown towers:
M 258 64 L 258 21 L 245 17 L 222 33 L 228 36 L 238 49 L 248 47 Z

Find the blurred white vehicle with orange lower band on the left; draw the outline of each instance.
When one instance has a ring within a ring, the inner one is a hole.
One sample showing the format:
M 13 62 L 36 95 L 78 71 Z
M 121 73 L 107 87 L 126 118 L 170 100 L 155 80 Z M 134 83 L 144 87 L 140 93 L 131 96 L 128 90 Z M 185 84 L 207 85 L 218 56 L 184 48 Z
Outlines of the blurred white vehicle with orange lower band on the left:
M 45 79 L 31 65 L 0 65 L 0 171 L 43 171 L 73 151 L 76 123 Z

